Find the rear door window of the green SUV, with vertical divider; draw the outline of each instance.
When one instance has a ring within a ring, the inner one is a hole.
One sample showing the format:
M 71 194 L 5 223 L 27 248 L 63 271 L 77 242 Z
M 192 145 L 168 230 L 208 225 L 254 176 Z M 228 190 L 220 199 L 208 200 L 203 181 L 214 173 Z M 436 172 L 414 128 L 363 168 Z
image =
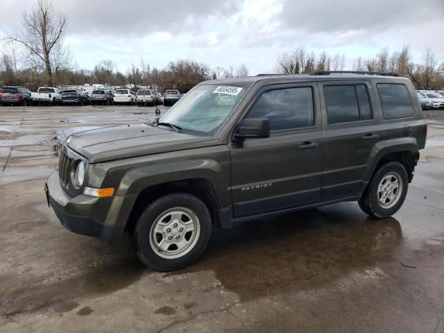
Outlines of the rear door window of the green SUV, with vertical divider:
M 324 95 L 330 125 L 373 119 L 365 85 L 329 85 Z

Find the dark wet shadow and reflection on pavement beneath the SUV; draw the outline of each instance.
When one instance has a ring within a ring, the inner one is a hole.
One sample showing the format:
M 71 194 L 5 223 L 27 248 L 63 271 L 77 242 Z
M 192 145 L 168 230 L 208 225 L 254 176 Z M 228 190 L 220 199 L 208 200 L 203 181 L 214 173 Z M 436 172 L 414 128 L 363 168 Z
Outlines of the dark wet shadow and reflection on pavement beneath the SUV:
M 343 203 L 216 230 L 198 262 L 166 276 L 214 271 L 225 289 L 252 300 L 373 269 L 401 239 L 396 219 L 372 219 Z

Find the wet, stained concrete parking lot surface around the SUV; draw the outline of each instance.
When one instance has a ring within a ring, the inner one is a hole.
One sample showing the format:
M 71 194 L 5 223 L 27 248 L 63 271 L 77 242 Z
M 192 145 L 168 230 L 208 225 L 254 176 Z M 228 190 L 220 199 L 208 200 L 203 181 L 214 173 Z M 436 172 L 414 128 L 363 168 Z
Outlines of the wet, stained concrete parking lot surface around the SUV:
M 145 122 L 154 110 L 0 108 L 2 333 L 444 332 L 439 111 L 425 112 L 427 146 L 392 218 L 341 203 L 251 221 L 215 230 L 193 266 L 158 273 L 126 239 L 62 228 L 43 191 L 61 130 Z

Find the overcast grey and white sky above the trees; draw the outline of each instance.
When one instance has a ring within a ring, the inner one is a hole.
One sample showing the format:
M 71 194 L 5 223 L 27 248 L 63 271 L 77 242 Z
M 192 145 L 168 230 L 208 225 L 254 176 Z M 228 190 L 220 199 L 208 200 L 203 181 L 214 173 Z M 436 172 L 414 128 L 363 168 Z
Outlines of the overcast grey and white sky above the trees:
M 35 0 L 0 0 L 0 30 L 20 28 Z M 379 49 L 409 44 L 421 60 L 430 46 L 444 61 L 444 0 L 53 0 L 68 20 L 65 43 L 78 67 L 140 58 L 151 67 L 192 59 L 250 74 L 271 72 L 281 51 L 296 46 L 345 53 L 347 64 Z M 0 52 L 1 53 L 1 52 Z

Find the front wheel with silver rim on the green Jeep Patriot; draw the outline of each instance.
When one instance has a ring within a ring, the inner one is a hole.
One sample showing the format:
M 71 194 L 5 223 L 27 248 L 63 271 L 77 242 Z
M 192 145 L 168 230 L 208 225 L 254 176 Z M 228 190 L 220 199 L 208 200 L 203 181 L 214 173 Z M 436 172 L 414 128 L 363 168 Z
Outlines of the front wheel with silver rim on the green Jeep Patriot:
M 212 219 L 205 203 L 187 193 L 163 196 L 139 216 L 132 244 L 137 257 L 157 271 L 188 266 L 210 241 Z

